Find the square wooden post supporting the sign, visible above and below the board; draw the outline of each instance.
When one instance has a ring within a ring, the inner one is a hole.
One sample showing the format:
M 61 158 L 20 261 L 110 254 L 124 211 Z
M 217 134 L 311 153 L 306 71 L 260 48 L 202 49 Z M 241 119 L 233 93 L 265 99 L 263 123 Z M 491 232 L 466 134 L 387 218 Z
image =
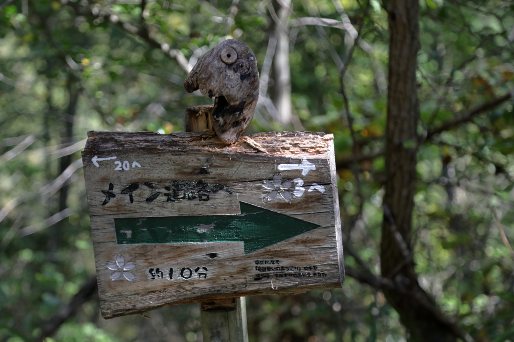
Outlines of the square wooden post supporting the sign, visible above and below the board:
M 186 132 L 211 130 L 212 105 L 189 107 L 184 114 Z M 205 342 L 248 342 L 245 297 L 200 303 L 201 331 Z

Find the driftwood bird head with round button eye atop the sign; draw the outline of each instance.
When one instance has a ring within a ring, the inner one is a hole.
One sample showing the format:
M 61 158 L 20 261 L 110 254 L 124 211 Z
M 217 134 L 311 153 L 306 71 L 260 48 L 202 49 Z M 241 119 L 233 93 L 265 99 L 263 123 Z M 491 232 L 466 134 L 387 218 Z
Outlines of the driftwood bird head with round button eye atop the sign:
M 184 88 L 214 97 L 210 113 L 214 132 L 222 142 L 234 143 L 250 125 L 259 98 L 255 55 L 245 43 L 228 39 L 201 56 Z

